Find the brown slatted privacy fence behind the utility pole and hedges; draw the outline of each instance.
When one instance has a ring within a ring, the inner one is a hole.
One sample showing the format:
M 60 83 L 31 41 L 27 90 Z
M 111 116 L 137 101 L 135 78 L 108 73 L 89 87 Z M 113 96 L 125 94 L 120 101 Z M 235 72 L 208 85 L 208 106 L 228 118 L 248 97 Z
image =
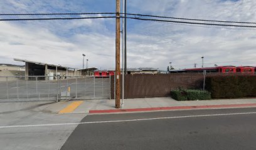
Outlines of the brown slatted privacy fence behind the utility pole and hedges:
M 207 73 L 207 76 L 241 76 L 239 73 Z M 253 74 L 251 74 L 253 75 Z M 254 75 L 255 76 L 255 75 Z M 124 78 L 124 98 L 168 97 L 173 89 L 203 89 L 203 73 L 127 74 Z M 120 79 L 122 90 L 122 79 Z M 114 99 L 114 76 L 111 78 L 111 99 Z M 121 91 L 122 95 L 122 91 Z M 121 96 L 122 98 L 122 96 Z

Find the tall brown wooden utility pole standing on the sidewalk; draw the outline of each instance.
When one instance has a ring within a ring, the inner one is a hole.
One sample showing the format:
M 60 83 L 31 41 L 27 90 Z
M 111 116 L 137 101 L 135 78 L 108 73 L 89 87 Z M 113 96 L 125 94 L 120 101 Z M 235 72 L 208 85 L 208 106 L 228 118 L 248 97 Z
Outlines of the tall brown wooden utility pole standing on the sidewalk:
M 115 108 L 120 108 L 120 0 L 116 0 L 115 31 Z

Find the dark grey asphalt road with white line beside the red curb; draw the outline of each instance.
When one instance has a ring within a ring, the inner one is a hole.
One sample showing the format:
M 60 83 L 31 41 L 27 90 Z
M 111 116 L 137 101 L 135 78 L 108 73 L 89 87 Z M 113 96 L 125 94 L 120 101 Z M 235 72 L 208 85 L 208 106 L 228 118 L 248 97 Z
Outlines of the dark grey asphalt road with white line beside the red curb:
M 89 115 L 81 122 L 90 123 L 78 125 L 61 150 L 256 149 L 255 112 L 243 108 Z

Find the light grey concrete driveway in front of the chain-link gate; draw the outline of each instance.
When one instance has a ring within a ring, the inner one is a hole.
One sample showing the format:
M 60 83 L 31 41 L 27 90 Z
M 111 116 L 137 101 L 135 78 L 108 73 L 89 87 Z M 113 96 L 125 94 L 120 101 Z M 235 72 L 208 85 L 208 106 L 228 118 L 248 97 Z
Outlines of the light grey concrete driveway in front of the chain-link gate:
M 0 105 L 0 149 L 60 149 L 68 136 L 77 127 L 31 126 L 8 128 L 19 125 L 42 125 L 60 123 L 79 123 L 87 114 L 58 114 L 66 104 L 49 102 L 1 103 Z M 56 112 L 46 108 L 51 107 Z M 6 128 L 1 128 L 1 127 Z

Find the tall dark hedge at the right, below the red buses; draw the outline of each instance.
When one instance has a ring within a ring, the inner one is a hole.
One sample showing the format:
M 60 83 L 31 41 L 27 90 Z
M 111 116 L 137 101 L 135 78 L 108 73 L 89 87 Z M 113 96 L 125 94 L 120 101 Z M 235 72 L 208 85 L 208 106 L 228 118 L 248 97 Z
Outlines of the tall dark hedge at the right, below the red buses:
M 211 76 L 206 78 L 211 98 L 245 98 L 256 96 L 256 76 Z

